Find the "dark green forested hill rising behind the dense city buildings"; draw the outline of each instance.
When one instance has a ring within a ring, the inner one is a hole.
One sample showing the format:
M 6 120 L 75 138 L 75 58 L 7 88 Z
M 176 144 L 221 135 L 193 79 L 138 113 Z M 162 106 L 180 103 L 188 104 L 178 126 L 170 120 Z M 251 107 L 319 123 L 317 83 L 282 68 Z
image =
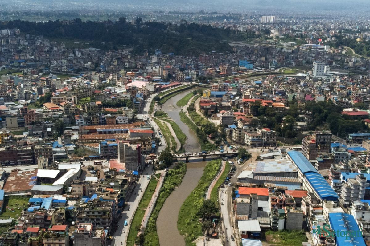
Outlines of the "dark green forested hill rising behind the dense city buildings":
M 135 24 L 119 21 L 104 22 L 71 21 L 31 22 L 14 20 L 1 22 L 0 28 L 19 28 L 31 35 L 44 35 L 48 38 L 68 38 L 89 41 L 100 49 L 117 49 L 118 46 L 134 47 L 134 52 L 142 53 L 155 49 L 174 52 L 176 55 L 198 55 L 211 51 L 231 52 L 228 40 L 245 40 L 255 37 L 254 32 L 242 32 L 231 28 L 214 28 L 211 25 L 169 22 L 143 22 L 140 17 Z

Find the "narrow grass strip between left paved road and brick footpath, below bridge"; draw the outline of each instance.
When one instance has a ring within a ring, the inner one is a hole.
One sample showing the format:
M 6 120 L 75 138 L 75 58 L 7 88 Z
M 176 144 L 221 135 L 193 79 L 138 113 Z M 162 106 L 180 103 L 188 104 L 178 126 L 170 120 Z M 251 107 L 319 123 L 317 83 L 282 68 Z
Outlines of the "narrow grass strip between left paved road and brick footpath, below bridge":
M 153 178 L 149 181 L 148 188 L 145 190 L 143 197 L 139 203 L 138 208 L 135 211 L 134 218 L 132 219 L 130 231 L 127 236 L 127 246 L 134 246 L 135 238 L 140 230 L 142 218 L 144 217 L 145 210 L 147 209 L 152 195 L 157 187 L 158 180 Z

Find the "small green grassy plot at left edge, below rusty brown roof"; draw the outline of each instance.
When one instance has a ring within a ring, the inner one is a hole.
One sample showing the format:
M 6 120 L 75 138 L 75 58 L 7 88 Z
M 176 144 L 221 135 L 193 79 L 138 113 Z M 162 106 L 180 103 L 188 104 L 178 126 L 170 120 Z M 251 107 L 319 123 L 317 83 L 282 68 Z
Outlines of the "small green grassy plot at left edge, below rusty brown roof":
M 21 211 L 28 208 L 28 197 L 21 195 L 5 196 L 3 211 L 0 215 L 1 219 L 18 219 Z

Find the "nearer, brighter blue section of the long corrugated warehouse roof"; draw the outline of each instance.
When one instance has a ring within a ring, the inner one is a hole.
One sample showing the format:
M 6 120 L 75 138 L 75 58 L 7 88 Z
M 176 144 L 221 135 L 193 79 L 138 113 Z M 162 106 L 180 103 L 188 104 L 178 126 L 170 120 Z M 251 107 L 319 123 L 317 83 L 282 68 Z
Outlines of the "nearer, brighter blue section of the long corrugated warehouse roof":
M 321 200 L 337 201 L 339 196 L 319 173 L 306 173 L 306 179 L 319 195 Z

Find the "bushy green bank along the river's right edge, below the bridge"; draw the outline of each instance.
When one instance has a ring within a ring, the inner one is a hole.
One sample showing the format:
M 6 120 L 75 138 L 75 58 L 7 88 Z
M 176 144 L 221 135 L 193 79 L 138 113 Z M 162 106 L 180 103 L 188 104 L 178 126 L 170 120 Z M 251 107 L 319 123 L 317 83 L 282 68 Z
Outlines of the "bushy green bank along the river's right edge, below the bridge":
M 205 192 L 218 173 L 221 160 L 211 160 L 204 168 L 203 176 L 198 185 L 182 204 L 177 221 L 177 229 L 185 238 L 186 246 L 194 246 L 193 241 L 202 236 L 202 225 L 199 223 L 198 211 L 201 208 Z

